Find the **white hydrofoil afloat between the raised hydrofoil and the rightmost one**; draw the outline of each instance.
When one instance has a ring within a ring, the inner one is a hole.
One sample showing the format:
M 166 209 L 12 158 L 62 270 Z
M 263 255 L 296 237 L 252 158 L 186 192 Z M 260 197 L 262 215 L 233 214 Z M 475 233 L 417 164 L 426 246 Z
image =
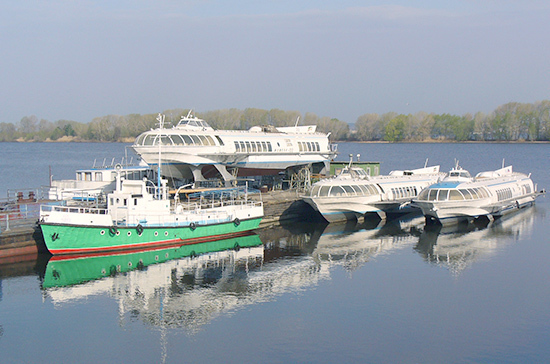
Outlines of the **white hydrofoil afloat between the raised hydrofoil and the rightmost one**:
M 370 177 L 350 163 L 335 178 L 315 183 L 302 200 L 329 222 L 358 219 L 367 213 L 384 219 L 387 214 L 410 212 L 411 199 L 443 177 L 439 166 Z

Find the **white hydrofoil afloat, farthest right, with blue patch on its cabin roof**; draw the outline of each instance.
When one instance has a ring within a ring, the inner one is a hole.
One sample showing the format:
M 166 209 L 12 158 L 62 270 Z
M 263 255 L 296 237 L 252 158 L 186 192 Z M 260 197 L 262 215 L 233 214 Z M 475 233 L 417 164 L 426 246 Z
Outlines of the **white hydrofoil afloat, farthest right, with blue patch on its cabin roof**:
M 440 183 L 424 189 L 413 205 L 426 223 L 448 225 L 461 221 L 488 223 L 535 203 L 545 191 L 537 191 L 531 175 L 512 171 L 512 166 L 481 172 L 472 178 L 458 165 Z

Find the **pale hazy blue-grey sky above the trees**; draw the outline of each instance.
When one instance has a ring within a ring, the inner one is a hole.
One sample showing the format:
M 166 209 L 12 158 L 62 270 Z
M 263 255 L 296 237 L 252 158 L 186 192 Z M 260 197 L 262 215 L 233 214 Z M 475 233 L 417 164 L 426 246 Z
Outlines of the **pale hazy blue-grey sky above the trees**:
M 3 0 L 0 122 L 279 108 L 490 112 L 550 94 L 550 2 Z

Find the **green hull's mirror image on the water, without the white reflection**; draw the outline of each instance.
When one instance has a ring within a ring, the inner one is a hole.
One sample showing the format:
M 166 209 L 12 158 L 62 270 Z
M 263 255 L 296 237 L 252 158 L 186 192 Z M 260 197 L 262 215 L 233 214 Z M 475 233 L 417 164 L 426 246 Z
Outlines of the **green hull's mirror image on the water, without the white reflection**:
M 173 259 L 262 244 L 258 235 L 217 240 L 208 243 L 183 245 L 176 248 L 148 249 L 132 253 L 104 253 L 92 256 L 54 256 L 48 262 L 43 288 L 63 287 L 113 276 L 117 273 L 143 269 L 149 265 Z

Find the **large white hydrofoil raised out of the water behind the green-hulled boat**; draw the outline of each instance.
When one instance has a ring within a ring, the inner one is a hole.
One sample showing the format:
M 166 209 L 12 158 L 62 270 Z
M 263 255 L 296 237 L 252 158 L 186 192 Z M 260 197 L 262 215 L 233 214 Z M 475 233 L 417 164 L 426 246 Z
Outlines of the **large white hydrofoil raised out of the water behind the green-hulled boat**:
M 289 167 L 328 166 L 336 154 L 329 134 L 316 126 L 254 126 L 249 130 L 214 130 L 191 112 L 172 128 L 157 128 L 139 135 L 132 149 L 151 167 L 175 179 L 204 181 L 221 176 L 277 174 Z

